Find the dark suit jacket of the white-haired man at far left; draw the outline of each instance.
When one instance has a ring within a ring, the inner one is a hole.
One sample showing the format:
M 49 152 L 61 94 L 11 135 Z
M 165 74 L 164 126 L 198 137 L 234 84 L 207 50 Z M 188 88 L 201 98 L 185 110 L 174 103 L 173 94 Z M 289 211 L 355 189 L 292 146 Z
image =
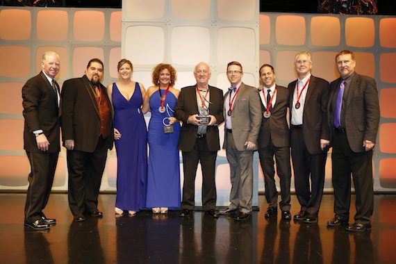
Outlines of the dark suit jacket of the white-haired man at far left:
M 59 93 L 59 85 L 56 83 Z M 60 151 L 60 111 L 58 97 L 43 72 L 29 79 L 22 88 L 24 106 L 24 149 L 41 152 L 37 147 L 33 131 L 44 131 L 49 141 L 49 152 Z

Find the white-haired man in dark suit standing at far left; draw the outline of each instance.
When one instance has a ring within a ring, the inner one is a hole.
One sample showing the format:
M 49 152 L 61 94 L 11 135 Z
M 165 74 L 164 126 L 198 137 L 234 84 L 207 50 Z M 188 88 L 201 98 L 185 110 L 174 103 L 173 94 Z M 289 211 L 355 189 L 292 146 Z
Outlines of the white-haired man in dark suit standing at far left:
M 26 193 L 25 226 L 49 229 L 56 224 L 42 212 L 51 193 L 60 151 L 60 94 L 55 76 L 60 69 L 59 56 L 53 51 L 42 55 L 42 72 L 22 88 L 24 106 L 24 149 L 31 164 Z

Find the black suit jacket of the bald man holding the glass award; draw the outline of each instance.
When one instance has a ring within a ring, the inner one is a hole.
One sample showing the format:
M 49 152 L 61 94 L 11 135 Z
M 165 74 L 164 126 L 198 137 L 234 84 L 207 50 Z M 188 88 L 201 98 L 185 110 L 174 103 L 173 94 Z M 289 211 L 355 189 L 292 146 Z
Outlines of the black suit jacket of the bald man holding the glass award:
M 217 124 L 208 126 L 206 129 L 206 143 L 208 144 L 208 149 L 210 151 L 217 151 L 220 149 L 219 129 L 217 125 L 224 122 L 223 91 L 209 85 L 209 92 L 209 101 L 211 101 L 211 104 L 209 104 L 209 114 L 216 117 Z M 174 110 L 175 117 L 183 122 L 179 136 L 179 149 L 181 149 L 181 151 L 192 151 L 192 148 L 195 145 L 198 126 L 187 124 L 187 119 L 190 115 L 195 115 L 197 113 L 198 105 L 196 86 L 193 85 L 182 88 Z

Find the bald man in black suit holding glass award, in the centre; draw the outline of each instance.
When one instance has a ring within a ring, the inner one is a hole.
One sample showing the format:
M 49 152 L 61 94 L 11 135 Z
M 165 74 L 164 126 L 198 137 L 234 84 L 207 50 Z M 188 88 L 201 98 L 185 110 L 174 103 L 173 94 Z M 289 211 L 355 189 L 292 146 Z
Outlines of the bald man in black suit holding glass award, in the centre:
M 223 92 L 208 85 L 211 68 L 198 63 L 194 69 L 196 85 L 181 89 L 175 117 L 183 122 L 179 149 L 183 155 L 183 199 L 181 217 L 192 215 L 195 206 L 195 176 L 198 163 L 202 170 L 202 207 L 206 215 L 217 218 L 215 164 L 220 149 L 218 124 L 224 121 Z

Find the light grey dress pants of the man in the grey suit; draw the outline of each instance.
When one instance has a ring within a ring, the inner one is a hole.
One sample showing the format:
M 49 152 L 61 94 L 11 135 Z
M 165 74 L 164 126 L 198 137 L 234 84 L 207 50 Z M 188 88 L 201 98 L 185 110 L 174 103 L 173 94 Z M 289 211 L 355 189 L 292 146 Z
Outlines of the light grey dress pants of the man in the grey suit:
M 226 157 L 231 170 L 231 194 L 229 209 L 239 208 L 242 213 L 251 212 L 253 199 L 253 152 L 239 151 L 233 134 L 226 132 Z

